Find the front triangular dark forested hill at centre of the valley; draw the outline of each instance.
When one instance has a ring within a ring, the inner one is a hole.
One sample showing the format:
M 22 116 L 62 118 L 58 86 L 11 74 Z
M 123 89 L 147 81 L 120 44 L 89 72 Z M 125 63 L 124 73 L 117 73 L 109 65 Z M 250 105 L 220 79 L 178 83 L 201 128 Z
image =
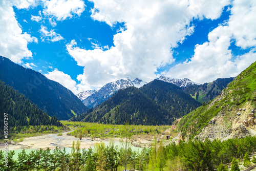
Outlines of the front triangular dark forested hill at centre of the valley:
M 162 125 L 172 123 L 172 115 L 148 98 L 138 88 L 119 90 L 93 111 L 73 117 L 71 120 L 111 124 Z

